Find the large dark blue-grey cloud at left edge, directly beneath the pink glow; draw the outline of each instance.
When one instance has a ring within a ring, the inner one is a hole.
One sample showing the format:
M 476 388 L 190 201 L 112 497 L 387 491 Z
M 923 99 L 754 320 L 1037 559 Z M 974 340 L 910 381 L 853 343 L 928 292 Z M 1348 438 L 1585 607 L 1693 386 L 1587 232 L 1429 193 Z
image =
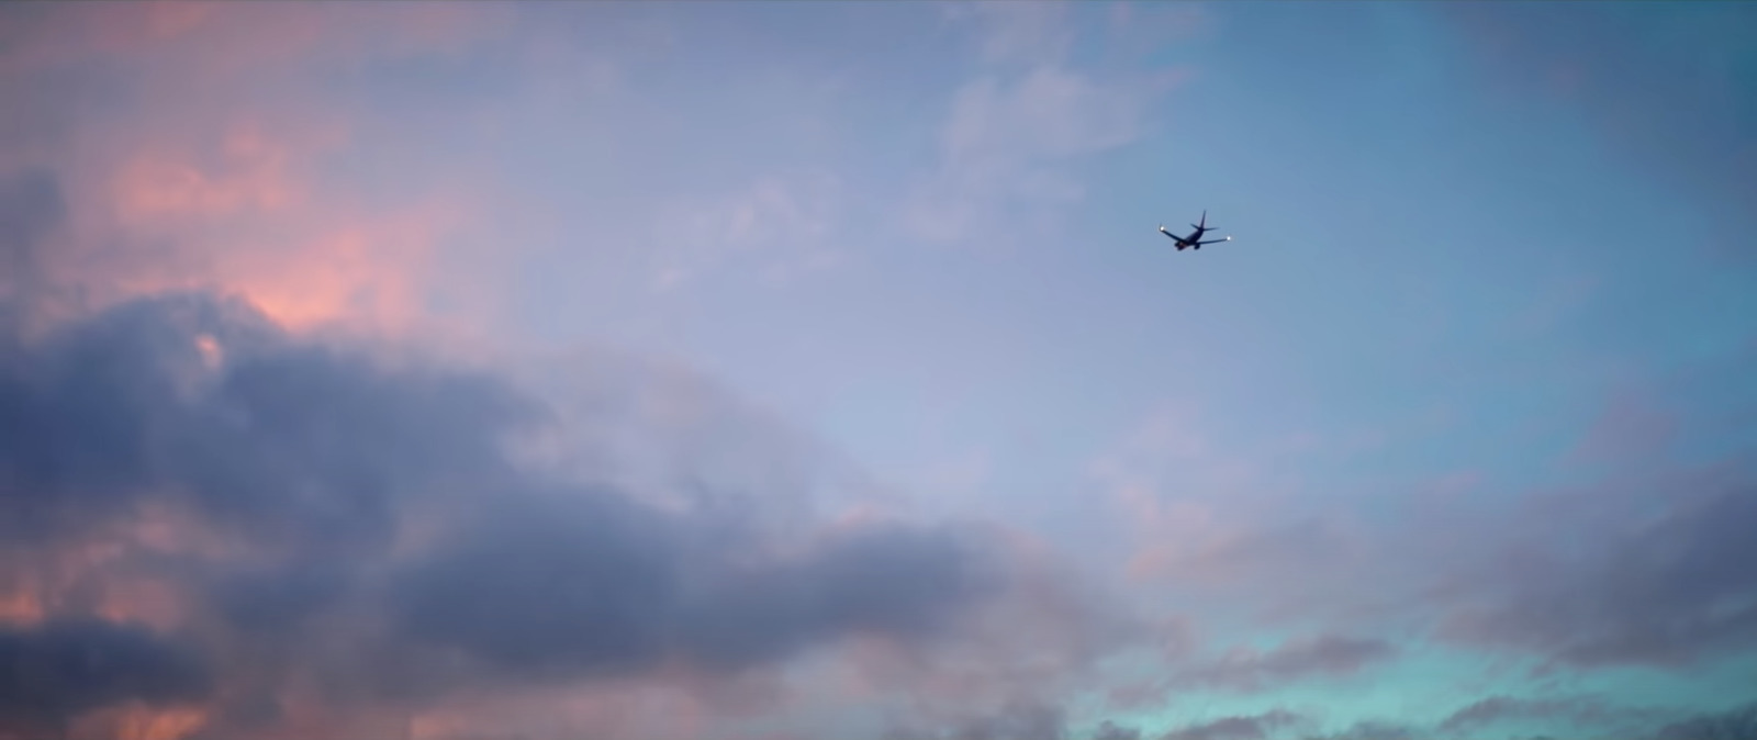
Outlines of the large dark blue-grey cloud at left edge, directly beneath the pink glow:
M 58 533 L 176 494 L 346 550 L 385 540 L 401 496 L 504 476 L 495 438 L 527 411 L 487 378 L 297 345 L 239 302 L 135 301 L 0 359 L 0 506 Z

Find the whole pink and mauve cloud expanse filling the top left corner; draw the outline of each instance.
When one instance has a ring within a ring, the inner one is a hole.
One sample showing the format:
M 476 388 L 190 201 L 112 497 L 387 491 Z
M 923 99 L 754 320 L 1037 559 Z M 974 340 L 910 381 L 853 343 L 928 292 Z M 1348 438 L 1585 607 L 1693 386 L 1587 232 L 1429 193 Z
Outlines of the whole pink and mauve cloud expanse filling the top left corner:
M 63 239 L 33 251 L 39 294 L 83 309 L 223 285 L 299 329 L 425 329 L 437 299 L 474 309 L 450 323 L 488 315 L 492 272 L 478 264 L 453 281 L 441 248 L 476 220 L 466 206 L 485 200 L 480 172 L 457 156 L 409 172 L 395 148 L 362 142 L 385 111 L 353 104 L 341 81 L 476 54 L 506 30 L 501 9 L 4 14 L 21 37 L 0 54 L 0 90 L 21 112 L 0 127 L 0 172 L 40 172 L 65 204 Z M 376 186 L 350 176 L 360 162 L 409 178 Z

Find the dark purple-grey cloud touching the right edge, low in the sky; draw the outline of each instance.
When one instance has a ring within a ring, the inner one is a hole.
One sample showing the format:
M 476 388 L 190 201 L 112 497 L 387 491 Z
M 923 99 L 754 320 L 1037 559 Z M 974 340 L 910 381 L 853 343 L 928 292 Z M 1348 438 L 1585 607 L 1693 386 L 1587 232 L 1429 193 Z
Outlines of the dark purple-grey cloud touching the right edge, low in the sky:
M 1718 478 L 1718 480 L 1717 480 Z M 1757 645 L 1757 485 L 1741 473 L 1646 489 L 1643 519 L 1565 520 L 1500 548 L 1442 635 L 1548 656 L 1553 666 L 1688 666 Z M 1615 504 L 1609 492 L 1560 504 Z M 1615 526 L 1609 526 L 1615 524 Z

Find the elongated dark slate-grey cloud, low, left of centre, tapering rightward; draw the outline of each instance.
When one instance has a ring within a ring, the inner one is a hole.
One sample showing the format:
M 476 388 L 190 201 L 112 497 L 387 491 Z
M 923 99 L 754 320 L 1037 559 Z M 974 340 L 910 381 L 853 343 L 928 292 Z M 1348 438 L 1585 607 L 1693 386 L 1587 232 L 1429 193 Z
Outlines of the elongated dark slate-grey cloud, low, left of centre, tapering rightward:
M 543 682 L 666 659 L 740 671 L 850 633 L 931 638 L 994 585 L 952 533 L 875 527 L 726 564 L 694 524 L 608 492 L 510 501 L 394 577 L 392 613 L 422 647 Z

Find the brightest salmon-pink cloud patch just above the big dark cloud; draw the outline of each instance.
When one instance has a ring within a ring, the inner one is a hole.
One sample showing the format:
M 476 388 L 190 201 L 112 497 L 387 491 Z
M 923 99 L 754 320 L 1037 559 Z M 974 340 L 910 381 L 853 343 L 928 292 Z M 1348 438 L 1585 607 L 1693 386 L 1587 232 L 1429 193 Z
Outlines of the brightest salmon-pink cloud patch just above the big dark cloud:
M 473 297 L 439 271 L 439 241 L 473 218 L 462 186 L 437 183 L 364 207 L 364 193 L 316 172 L 315 162 L 346 151 L 320 123 L 264 127 L 244 116 L 193 128 L 223 144 L 167 135 L 128 146 L 112 172 L 84 176 L 76 227 L 88 253 L 61 262 L 86 267 L 63 272 L 112 301 L 225 285 L 295 329 L 408 330 L 432 316 L 427 302 L 441 290 Z

